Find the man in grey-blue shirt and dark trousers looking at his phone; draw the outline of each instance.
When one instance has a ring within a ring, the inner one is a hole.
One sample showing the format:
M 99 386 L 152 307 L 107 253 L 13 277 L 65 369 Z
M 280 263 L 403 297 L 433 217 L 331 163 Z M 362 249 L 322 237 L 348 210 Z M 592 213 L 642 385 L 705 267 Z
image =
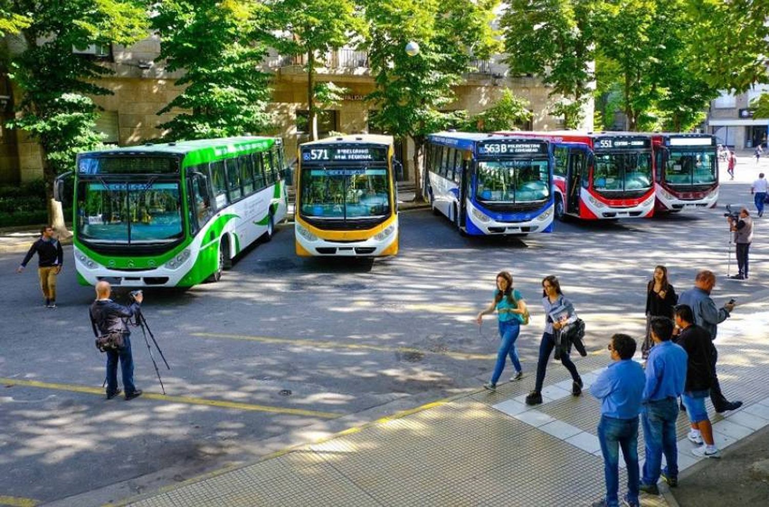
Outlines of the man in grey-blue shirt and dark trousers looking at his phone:
M 711 299 L 711 292 L 716 286 L 716 275 L 707 269 L 697 273 L 694 278 L 694 287 L 681 293 L 678 298 L 680 305 L 687 305 L 691 308 L 694 315 L 694 324 L 704 328 L 711 335 L 711 402 L 719 414 L 727 410 L 737 410 L 742 406 L 742 402 L 730 402 L 721 392 L 721 385 L 718 383 L 716 373 L 716 362 L 718 361 L 718 351 L 714 340 L 718 331 L 718 325 L 729 318 L 731 311 L 734 310 L 734 301 L 727 302 L 721 309 L 716 309 L 716 304 Z

